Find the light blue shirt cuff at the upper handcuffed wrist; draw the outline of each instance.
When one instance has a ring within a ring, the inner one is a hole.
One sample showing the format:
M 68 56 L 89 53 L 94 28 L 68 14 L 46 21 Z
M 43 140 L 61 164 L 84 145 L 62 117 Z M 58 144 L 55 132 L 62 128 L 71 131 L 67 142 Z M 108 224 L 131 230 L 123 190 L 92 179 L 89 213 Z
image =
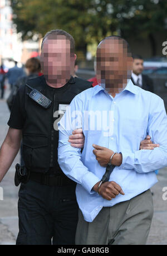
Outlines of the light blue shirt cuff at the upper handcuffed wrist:
M 118 169 L 134 169 L 135 154 L 129 152 L 120 152 L 122 154 L 122 163 Z

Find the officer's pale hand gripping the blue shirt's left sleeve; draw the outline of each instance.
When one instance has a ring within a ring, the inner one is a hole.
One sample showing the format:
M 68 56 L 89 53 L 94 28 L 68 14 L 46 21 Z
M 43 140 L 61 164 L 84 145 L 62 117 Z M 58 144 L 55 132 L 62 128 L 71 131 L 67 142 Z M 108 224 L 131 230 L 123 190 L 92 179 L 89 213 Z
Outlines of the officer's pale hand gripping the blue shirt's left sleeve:
M 84 148 L 85 136 L 82 129 L 76 129 L 72 132 L 72 135 L 69 136 L 68 142 L 71 143 L 73 148 Z

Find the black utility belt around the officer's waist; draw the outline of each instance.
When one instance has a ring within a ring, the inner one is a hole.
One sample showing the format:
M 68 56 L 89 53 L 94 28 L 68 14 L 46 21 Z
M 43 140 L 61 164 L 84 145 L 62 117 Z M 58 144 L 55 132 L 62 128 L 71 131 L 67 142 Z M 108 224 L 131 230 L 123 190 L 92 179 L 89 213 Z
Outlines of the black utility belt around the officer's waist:
M 62 176 L 51 176 L 48 174 L 43 174 L 43 173 L 35 173 L 31 172 L 30 173 L 30 179 L 31 181 L 38 182 L 40 184 L 46 185 L 46 186 L 57 186 L 57 187 L 62 187 L 62 186 L 75 186 L 76 183 L 71 181 L 71 179 L 68 179 L 66 177 Z

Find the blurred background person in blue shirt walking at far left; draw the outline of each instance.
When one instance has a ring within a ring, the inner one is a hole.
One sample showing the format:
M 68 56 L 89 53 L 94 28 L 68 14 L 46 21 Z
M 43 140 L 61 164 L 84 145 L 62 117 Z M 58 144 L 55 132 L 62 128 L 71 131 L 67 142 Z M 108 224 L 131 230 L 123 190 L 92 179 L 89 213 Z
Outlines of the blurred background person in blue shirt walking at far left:
M 8 83 L 10 84 L 11 89 L 13 85 L 16 83 L 17 79 L 19 77 L 22 77 L 22 75 L 24 75 L 23 68 L 17 67 L 17 61 L 14 61 L 14 64 L 15 66 L 13 68 L 9 68 L 7 72 Z

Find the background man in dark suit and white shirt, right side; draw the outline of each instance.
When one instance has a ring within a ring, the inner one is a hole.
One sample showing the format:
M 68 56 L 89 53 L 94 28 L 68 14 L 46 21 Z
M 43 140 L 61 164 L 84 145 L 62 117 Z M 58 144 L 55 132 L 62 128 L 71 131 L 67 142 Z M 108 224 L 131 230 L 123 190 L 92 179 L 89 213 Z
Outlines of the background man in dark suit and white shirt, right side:
M 153 80 L 148 75 L 142 74 L 143 72 L 143 58 L 135 54 L 133 55 L 134 61 L 132 66 L 131 80 L 135 86 L 139 86 L 146 91 L 154 92 Z

